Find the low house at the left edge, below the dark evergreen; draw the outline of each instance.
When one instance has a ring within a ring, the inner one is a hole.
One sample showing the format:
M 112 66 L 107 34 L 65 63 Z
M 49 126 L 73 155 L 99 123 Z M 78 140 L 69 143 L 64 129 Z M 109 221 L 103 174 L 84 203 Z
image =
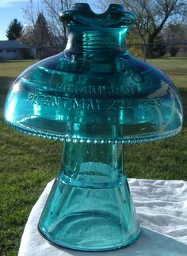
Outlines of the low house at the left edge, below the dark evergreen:
M 0 41 L 0 60 L 23 60 L 36 58 L 35 47 L 25 45 L 16 40 Z

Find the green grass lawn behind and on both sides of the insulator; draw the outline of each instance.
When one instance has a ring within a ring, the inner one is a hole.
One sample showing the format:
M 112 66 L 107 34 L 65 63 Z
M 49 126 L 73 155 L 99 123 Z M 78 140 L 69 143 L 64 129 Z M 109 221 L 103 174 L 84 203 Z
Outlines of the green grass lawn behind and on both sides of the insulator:
M 127 145 L 128 177 L 187 180 L 187 58 L 148 60 L 179 88 L 185 123 L 175 138 Z M 3 122 L 2 109 L 10 83 L 32 61 L 0 63 L 0 255 L 17 255 L 29 211 L 59 169 L 59 142 L 19 134 Z

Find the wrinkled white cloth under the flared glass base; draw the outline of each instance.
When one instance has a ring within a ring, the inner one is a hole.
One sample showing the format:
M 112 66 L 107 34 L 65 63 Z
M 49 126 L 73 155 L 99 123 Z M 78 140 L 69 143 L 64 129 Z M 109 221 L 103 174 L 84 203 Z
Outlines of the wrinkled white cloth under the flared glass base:
M 121 250 L 82 252 L 59 249 L 37 231 L 53 180 L 29 215 L 18 256 L 187 256 L 187 182 L 128 179 L 141 225 L 140 237 Z

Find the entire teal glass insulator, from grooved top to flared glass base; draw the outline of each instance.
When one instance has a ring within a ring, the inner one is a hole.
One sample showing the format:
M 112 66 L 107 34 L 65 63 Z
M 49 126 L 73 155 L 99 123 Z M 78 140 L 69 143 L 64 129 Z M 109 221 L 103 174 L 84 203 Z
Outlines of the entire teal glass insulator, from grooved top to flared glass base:
M 169 78 L 126 50 L 135 15 L 123 6 L 95 14 L 78 3 L 60 20 L 67 47 L 18 76 L 5 121 L 24 134 L 64 142 L 40 233 L 58 246 L 114 250 L 139 236 L 124 144 L 177 134 L 181 99 Z

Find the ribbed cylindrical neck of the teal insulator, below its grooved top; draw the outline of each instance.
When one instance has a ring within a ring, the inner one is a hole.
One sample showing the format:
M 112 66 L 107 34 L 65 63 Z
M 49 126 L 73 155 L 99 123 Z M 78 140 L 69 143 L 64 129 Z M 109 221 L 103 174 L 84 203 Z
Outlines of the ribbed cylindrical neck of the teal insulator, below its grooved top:
M 115 54 L 126 52 L 125 36 L 128 27 L 120 29 L 86 29 L 71 26 L 68 28 L 66 50 L 74 54 Z

